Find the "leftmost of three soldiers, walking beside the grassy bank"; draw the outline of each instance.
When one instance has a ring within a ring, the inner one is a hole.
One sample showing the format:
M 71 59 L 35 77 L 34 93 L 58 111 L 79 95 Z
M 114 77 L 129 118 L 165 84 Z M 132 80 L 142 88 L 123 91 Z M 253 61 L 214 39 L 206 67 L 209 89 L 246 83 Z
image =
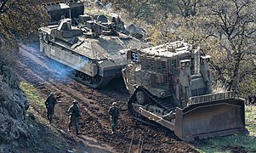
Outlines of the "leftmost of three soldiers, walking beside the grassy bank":
M 47 119 L 49 124 L 52 122 L 54 117 L 54 107 L 57 104 L 57 100 L 54 97 L 54 93 L 50 93 L 48 98 L 45 100 L 45 106 L 47 109 Z

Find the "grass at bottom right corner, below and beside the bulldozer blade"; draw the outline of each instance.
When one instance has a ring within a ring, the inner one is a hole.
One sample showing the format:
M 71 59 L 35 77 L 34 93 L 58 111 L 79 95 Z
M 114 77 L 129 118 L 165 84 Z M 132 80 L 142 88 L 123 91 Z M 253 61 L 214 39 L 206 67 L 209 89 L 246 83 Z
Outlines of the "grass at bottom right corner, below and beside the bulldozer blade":
M 204 139 L 200 144 L 196 144 L 199 152 L 232 152 L 230 147 L 242 148 L 248 152 L 256 151 L 256 106 L 246 106 L 245 108 L 247 135 L 231 135 L 215 139 Z M 236 149 L 235 149 L 236 150 Z

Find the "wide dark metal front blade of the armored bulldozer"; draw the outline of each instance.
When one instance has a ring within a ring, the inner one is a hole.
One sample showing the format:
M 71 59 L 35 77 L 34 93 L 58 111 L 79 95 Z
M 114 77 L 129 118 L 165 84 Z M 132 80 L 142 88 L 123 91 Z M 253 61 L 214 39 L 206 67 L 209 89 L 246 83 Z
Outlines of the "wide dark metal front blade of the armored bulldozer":
M 246 134 L 244 100 L 221 99 L 177 108 L 174 133 L 185 141 Z

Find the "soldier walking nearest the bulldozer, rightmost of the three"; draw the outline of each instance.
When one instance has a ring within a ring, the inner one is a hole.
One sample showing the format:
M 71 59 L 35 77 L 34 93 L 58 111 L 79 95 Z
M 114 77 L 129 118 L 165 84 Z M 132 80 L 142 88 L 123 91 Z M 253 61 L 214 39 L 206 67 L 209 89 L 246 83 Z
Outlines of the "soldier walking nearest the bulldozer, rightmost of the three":
M 112 134 L 115 132 L 115 129 L 117 127 L 117 119 L 118 116 L 120 115 L 120 110 L 117 107 L 117 103 L 114 102 L 109 109 L 109 115 L 111 116 L 111 128 L 112 128 Z

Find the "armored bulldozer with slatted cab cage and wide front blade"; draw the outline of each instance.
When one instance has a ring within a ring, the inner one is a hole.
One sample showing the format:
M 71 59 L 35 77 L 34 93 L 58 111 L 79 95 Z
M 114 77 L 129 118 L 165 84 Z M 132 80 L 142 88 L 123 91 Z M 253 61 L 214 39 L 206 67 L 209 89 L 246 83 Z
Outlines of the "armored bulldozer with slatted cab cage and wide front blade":
M 135 119 L 159 123 L 185 141 L 248 133 L 244 100 L 234 92 L 213 94 L 210 56 L 198 48 L 178 41 L 127 56 L 122 75 Z

